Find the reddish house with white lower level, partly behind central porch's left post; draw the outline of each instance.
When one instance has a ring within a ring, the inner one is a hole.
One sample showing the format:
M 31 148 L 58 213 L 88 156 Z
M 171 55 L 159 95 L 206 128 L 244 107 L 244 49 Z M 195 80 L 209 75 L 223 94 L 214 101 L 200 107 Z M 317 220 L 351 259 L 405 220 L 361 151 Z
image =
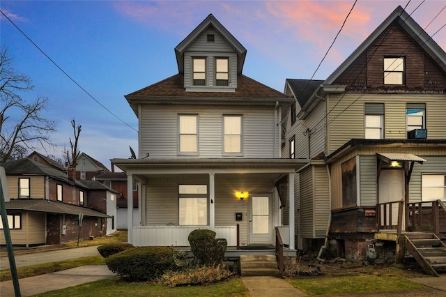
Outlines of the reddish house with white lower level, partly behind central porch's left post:
M 128 209 L 127 209 L 127 174 L 125 172 L 109 172 L 95 176 L 95 181 L 100 181 L 109 188 L 112 188 L 117 194 L 116 201 L 116 229 L 128 229 Z M 132 183 L 132 199 L 133 199 L 133 224 L 132 226 L 139 225 L 139 211 L 138 211 L 138 185 L 136 181 Z

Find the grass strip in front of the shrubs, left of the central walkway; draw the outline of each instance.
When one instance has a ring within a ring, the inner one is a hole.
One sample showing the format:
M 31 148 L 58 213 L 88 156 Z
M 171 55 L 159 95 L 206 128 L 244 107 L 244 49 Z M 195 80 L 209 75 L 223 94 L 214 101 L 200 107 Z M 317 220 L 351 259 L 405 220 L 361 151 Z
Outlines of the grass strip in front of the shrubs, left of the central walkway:
M 36 295 L 40 297 L 50 296 L 250 296 L 249 291 L 243 285 L 240 277 L 233 277 L 226 282 L 219 282 L 210 286 L 187 286 L 187 287 L 162 287 L 144 282 L 124 282 L 119 277 L 107 278 L 89 284 L 80 284 L 76 287 L 47 292 Z

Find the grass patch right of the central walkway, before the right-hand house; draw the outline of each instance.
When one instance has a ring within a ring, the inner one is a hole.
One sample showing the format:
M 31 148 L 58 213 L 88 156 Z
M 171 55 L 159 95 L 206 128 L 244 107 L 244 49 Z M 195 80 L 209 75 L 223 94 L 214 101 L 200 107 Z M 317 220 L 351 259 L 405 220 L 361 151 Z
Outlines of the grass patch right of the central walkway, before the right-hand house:
M 295 278 L 287 280 L 308 295 L 359 294 L 367 292 L 423 289 L 424 286 L 391 275 Z

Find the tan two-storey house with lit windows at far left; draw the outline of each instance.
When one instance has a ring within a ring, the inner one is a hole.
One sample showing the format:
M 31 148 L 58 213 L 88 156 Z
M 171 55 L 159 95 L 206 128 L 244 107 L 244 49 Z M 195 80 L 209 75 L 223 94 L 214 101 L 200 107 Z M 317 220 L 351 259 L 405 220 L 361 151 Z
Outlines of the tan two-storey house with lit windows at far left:
M 107 218 L 89 204 L 94 193 L 65 172 L 28 158 L 4 162 L 10 201 L 6 202 L 13 245 L 60 244 L 79 238 L 105 236 Z M 90 197 L 92 195 L 92 197 Z M 3 228 L 3 226 L 0 226 Z M 3 232 L 0 243 L 5 244 Z

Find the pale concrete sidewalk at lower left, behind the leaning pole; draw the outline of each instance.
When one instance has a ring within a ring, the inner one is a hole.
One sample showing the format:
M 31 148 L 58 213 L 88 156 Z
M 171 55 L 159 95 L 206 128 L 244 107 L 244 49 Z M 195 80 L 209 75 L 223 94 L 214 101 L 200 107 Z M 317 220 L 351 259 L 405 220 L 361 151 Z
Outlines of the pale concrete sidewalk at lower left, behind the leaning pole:
M 74 287 L 78 284 L 96 282 L 113 276 L 115 276 L 115 273 L 109 271 L 107 265 L 80 266 L 65 271 L 21 278 L 19 280 L 19 287 L 22 296 L 33 296 L 47 291 Z M 12 280 L 0 282 L 0 296 L 15 296 Z

